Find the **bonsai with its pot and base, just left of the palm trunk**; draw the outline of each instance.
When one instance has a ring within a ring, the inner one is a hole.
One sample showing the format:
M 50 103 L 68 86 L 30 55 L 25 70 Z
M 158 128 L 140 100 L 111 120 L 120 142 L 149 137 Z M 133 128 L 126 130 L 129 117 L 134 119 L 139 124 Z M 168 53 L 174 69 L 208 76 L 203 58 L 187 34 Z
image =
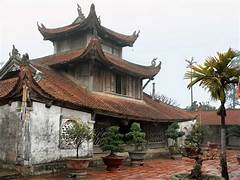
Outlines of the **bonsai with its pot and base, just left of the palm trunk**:
M 190 149 L 190 151 L 187 152 L 187 156 L 196 160 L 195 166 L 189 175 L 190 179 L 202 178 L 203 159 L 200 145 L 203 143 L 203 136 L 203 127 L 199 123 L 195 123 L 185 139 L 185 147 Z

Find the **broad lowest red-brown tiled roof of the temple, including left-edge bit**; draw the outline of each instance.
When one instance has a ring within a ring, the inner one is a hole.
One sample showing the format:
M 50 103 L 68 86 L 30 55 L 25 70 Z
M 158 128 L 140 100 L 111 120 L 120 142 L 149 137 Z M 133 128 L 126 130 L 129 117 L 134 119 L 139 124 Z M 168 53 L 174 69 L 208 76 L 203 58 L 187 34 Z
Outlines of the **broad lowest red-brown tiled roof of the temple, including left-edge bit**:
M 84 108 L 97 113 L 107 113 L 112 116 L 147 121 L 185 121 L 193 119 L 193 115 L 178 108 L 153 101 L 144 94 L 143 100 L 136 100 L 112 94 L 91 92 L 54 70 L 35 66 L 43 73 L 43 79 L 38 82 L 41 89 L 53 97 L 53 104 L 66 107 Z M 17 79 L 0 81 L 0 93 L 4 96 L 11 91 Z M 3 88 L 4 87 L 4 88 Z M 1 97 L 0 97 L 1 98 Z

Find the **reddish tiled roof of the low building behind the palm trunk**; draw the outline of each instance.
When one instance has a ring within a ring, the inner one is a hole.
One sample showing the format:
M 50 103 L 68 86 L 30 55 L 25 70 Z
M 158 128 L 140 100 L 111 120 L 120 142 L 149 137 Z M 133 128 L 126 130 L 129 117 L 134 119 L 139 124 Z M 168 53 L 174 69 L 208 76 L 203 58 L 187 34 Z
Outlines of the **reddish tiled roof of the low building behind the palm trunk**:
M 197 119 L 206 125 L 220 125 L 221 117 L 217 115 L 216 111 L 199 111 L 194 113 Z M 240 109 L 227 110 L 225 119 L 226 125 L 240 125 Z

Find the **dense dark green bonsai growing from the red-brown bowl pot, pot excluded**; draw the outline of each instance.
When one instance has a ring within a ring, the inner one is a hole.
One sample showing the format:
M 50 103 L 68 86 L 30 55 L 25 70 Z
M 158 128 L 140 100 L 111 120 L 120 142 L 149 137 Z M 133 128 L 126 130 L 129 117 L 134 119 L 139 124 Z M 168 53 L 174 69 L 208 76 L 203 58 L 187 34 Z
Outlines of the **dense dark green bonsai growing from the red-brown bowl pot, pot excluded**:
M 110 155 L 114 156 L 116 152 L 122 152 L 123 134 L 119 133 L 118 126 L 111 126 L 103 135 L 100 147 L 103 151 L 110 151 Z

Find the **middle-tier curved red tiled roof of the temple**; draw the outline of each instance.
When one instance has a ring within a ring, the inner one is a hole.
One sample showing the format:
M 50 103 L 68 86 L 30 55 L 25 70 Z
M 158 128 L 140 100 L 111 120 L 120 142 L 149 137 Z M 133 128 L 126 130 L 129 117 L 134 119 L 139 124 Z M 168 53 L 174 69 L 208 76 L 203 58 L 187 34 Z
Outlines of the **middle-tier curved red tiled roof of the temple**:
M 93 38 L 88 47 L 85 49 L 74 50 L 57 55 L 46 56 L 39 59 L 35 59 L 34 62 L 46 66 L 56 66 L 66 63 L 72 63 L 75 61 L 86 61 L 89 54 L 94 51 L 97 56 L 97 60 L 101 63 L 110 66 L 111 69 L 115 68 L 124 73 L 128 73 L 134 76 L 142 78 L 152 78 L 160 71 L 160 64 L 158 66 L 141 66 L 131 63 L 109 53 L 103 52 L 101 44 L 97 38 Z

